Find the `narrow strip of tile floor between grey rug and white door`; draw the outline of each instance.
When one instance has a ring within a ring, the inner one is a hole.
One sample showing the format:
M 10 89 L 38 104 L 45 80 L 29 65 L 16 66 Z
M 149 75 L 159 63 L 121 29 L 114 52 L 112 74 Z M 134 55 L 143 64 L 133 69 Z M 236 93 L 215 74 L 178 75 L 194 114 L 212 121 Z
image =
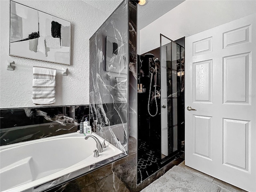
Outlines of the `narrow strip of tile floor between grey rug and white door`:
M 246 192 L 245 190 L 242 190 L 236 186 L 230 185 L 224 181 L 218 180 L 210 175 L 204 174 L 198 170 L 195 170 L 193 168 L 190 168 L 188 166 L 185 165 L 185 161 L 183 161 L 182 163 L 180 163 L 178 166 L 181 166 L 183 168 L 186 168 L 187 170 L 189 170 L 190 172 L 218 185 L 221 188 L 220 192 Z

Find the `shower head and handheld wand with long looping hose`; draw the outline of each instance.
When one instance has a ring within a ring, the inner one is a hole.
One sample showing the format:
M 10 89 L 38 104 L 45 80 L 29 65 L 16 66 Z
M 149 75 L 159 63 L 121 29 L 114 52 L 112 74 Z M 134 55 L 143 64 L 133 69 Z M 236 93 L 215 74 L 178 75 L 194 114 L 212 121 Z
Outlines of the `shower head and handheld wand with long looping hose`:
M 155 114 L 151 114 L 150 113 L 150 94 L 151 94 L 151 87 L 152 87 L 152 79 L 153 79 L 153 75 L 154 73 L 156 73 L 156 63 L 154 62 L 154 54 L 151 54 L 151 53 L 148 53 L 148 54 L 145 54 L 144 55 L 146 58 L 151 58 L 153 63 L 154 63 L 154 67 L 150 67 L 149 69 L 149 72 L 151 74 L 151 77 L 150 77 L 150 87 L 149 87 L 149 94 L 148 94 L 148 114 L 152 117 L 156 116 L 157 113 L 158 113 L 158 106 L 157 106 L 157 102 L 156 102 L 156 74 L 155 74 L 155 81 L 154 81 L 154 87 L 155 87 L 155 90 L 154 90 L 154 100 L 156 102 L 156 113 Z

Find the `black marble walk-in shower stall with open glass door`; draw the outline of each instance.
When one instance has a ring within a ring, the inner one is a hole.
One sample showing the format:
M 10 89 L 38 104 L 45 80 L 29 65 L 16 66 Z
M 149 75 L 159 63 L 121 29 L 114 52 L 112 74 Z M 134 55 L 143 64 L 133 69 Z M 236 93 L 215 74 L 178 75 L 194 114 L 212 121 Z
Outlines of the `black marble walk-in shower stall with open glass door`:
M 184 154 L 185 38 L 138 55 L 137 184 Z

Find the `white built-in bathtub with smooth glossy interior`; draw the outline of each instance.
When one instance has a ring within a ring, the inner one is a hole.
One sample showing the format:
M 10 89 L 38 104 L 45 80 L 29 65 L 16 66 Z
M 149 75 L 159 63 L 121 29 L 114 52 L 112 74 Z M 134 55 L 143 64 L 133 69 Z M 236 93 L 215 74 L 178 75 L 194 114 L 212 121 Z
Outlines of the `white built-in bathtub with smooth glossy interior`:
M 107 147 L 94 158 L 96 142 L 84 137 L 70 133 L 0 146 L 0 191 L 23 191 L 122 153 L 106 142 Z

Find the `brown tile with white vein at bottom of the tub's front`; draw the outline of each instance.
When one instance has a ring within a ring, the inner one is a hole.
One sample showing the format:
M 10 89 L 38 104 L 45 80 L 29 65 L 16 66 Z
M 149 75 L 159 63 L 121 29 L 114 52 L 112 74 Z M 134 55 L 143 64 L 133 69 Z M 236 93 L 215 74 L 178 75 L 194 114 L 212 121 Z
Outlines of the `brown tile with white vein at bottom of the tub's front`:
M 97 184 L 102 192 L 130 192 L 115 174 L 111 174 L 97 181 Z

